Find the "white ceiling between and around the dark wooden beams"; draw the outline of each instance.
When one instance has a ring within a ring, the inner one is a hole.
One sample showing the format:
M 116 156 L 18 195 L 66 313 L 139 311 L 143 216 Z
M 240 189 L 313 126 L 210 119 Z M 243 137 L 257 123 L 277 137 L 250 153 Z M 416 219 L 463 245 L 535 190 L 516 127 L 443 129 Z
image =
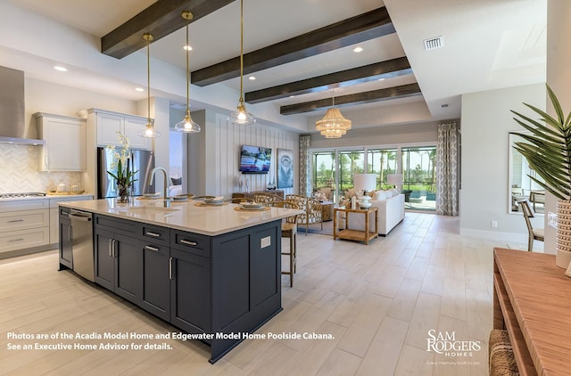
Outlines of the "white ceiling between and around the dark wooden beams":
M 95 41 L 153 4 L 152 0 L 8 1 L 29 12 L 79 29 L 94 36 Z M 239 54 L 239 4 L 239 1 L 235 1 L 191 23 L 191 70 L 226 61 Z M 374 111 L 386 106 L 417 103 L 417 106 L 427 106 L 429 110 L 426 111 L 429 115 L 425 120 L 434 121 L 459 118 L 461 94 L 545 81 L 547 5 L 544 0 L 244 0 L 244 53 L 377 9 L 383 4 L 393 20 L 396 35 L 361 43 L 360 46 L 364 48 L 362 53 L 353 53 L 354 46 L 349 46 L 256 72 L 253 74 L 256 80 L 244 78 L 244 91 L 351 69 L 406 54 L 413 75 L 340 87 L 335 89 L 335 95 L 418 82 L 423 94 L 421 96 L 343 107 L 343 114 L 350 118 L 350 114 L 355 111 Z M 444 42 L 442 48 L 424 50 L 424 39 L 440 36 Z M 154 42 L 151 45 L 153 61 L 161 60 L 177 66 L 177 73 L 184 74 L 184 43 L 184 29 Z M 0 53 L 3 52 L 2 47 L 0 42 Z M 13 56 L 8 57 L 6 53 L 12 53 Z M 143 53 L 145 51 L 133 55 Z M 110 74 L 110 79 L 106 79 L 101 71 L 91 71 L 88 64 L 85 69 L 79 69 L 81 79 L 65 80 L 46 69 L 46 61 L 43 60 L 48 59 L 42 59 L 40 53 L 16 52 L 10 48 L 5 49 L 2 57 L 4 59 L 0 59 L 0 62 L 3 63 L 21 61 L 25 66 L 23 70 L 30 77 L 59 81 L 70 86 L 88 86 L 95 92 L 108 91 L 113 87 L 114 94 L 132 100 L 142 99 L 146 95 L 132 90 L 135 80 L 125 78 L 125 82 L 119 82 L 117 72 L 114 72 L 114 77 Z M 124 65 L 127 65 L 136 58 L 128 56 L 123 60 L 126 61 Z M 144 69 L 139 65 L 134 63 L 132 69 Z M 228 92 L 228 88 L 239 90 L 239 79 L 214 84 L 211 90 Z M 184 88 L 177 93 L 170 93 L 170 99 L 184 102 L 182 93 L 186 93 Z M 193 86 L 191 97 L 193 93 L 203 92 Z M 331 95 L 330 91 L 304 94 L 273 101 L 271 104 L 278 112 L 281 105 L 328 98 Z M 204 104 L 201 100 L 197 98 L 198 102 L 193 102 L 194 109 Z M 443 108 L 443 104 L 448 104 L 448 107 Z M 255 106 L 257 105 L 253 108 Z M 252 108 L 249 110 L 254 112 Z M 305 114 L 309 119 L 308 124 L 323 112 L 325 111 Z M 368 122 L 362 126 L 380 125 L 383 125 L 382 119 L 378 119 L 376 124 Z M 353 127 L 360 125 L 353 124 Z

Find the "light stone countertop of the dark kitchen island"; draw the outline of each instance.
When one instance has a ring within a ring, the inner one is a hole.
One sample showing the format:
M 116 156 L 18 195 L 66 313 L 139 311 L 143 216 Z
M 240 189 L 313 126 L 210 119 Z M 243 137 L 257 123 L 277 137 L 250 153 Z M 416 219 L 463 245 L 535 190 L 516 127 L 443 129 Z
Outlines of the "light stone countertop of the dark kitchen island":
M 103 199 L 65 201 L 60 206 L 208 236 L 231 233 L 302 213 L 302 210 L 292 208 L 238 211 L 236 208 L 240 208 L 239 204 L 200 207 L 195 205 L 197 202 L 202 201 L 171 201 L 170 208 L 163 208 L 161 199 L 132 200 L 129 204 L 120 204 L 116 199 Z

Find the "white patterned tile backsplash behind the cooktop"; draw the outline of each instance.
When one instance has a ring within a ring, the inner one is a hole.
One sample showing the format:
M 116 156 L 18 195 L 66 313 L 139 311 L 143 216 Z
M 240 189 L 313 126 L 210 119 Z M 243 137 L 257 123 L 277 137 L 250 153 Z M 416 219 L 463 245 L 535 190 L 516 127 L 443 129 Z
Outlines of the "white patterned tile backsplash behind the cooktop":
M 79 172 L 37 171 L 37 153 L 41 146 L 0 143 L 0 193 L 49 192 L 58 184 L 79 184 Z

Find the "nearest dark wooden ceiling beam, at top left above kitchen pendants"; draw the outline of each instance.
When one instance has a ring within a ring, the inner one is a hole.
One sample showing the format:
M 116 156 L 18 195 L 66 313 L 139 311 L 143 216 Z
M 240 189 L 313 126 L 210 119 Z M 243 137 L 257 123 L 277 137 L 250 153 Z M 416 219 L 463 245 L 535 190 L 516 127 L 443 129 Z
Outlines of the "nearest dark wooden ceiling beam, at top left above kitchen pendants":
M 138 13 L 135 17 L 120 25 L 117 29 L 101 38 L 101 52 L 122 59 L 145 47 L 143 34 L 153 34 L 153 40 L 166 37 L 183 28 L 186 20 L 181 13 L 193 13 L 193 20 L 199 20 L 211 12 L 235 0 L 158 0 Z M 110 11 L 112 12 L 112 11 Z

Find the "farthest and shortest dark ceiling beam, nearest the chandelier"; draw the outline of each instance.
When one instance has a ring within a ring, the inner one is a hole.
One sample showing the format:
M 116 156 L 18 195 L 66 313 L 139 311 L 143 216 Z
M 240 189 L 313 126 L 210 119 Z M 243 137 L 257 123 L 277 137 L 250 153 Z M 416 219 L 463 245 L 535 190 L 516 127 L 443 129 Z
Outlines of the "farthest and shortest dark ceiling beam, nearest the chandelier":
M 380 102 L 389 99 L 405 98 L 413 95 L 420 95 L 420 87 L 417 83 L 387 87 L 385 89 L 373 90 L 370 92 L 347 94 L 335 97 L 335 107 L 363 104 L 370 102 Z M 289 104 L 279 108 L 281 115 L 294 115 L 297 113 L 323 110 L 331 107 L 333 98 L 320 99 L 318 101 Z

